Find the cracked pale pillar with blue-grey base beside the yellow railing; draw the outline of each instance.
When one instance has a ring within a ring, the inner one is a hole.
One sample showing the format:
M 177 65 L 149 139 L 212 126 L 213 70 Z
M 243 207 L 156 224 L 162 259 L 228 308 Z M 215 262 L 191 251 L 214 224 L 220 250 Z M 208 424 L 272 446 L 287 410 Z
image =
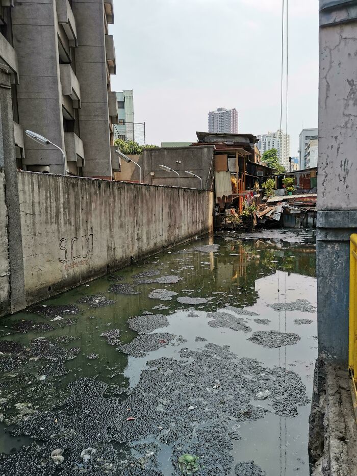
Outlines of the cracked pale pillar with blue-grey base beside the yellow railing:
M 349 237 L 357 232 L 357 1 L 320 0 L 319 356 L 348 363 Z

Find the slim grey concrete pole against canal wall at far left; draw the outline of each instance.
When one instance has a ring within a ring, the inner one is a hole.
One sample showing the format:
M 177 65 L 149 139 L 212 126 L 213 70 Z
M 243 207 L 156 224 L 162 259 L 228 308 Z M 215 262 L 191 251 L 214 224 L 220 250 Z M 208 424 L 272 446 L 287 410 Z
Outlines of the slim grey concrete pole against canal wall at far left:
M 8 212 L 7 241 L 10 262 L 10 306 L 7 308 L 6 305 L 0 305 L 0 315 L 5 315 L 10 311 L 14 313 L 26 307 L 10 79 L 9 68 L 0 64 L 0 169 L 3 168 L 5 172 L 5 200 Z

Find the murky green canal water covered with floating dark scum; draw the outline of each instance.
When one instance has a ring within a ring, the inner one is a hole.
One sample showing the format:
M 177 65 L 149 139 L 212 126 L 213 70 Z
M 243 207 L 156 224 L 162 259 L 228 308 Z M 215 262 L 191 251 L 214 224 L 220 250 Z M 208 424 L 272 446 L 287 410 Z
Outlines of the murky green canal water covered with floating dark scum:
M 0 476 L 308 476 L 310 231 L 216 233 L 0 321 Z

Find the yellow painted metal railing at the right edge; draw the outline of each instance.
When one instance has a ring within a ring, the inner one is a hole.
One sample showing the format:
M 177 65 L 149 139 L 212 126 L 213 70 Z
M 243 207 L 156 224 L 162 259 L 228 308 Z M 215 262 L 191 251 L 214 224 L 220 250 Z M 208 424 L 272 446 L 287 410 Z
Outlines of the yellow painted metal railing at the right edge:
M 356 368 L 356 265 L 357 265 L 357 234 L 350 238 L 350 275 L 349 275 L 349 349 L 348 364 L 354 377 Z

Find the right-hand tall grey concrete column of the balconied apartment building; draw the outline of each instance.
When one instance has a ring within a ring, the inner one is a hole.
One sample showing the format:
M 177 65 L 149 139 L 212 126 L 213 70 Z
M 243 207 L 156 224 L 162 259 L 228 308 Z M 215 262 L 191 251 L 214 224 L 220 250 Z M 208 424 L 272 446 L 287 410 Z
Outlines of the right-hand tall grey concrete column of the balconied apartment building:
M 103 0 L 72 0 L 72 10 L 78 34 L 75 65 L 81 84 L 79 118 L 86 158 L 84 175 L 111 179 Z

